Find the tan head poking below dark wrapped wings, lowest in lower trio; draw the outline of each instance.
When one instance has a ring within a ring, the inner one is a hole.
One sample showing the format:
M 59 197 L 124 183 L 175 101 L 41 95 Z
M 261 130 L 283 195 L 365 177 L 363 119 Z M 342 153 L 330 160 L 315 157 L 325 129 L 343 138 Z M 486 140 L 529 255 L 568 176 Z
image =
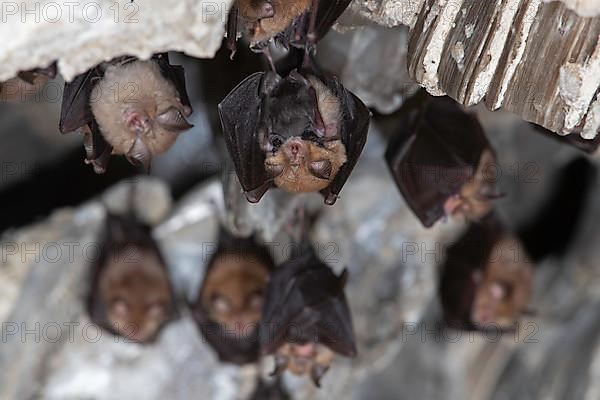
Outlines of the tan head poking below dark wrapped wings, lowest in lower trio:
M 334 357 L 335 353 L 320 343 L 285 343 L 275 353 L 274 374 L 287 370 L 294 375 L 310 375 L 314 384 L 320 387 Z

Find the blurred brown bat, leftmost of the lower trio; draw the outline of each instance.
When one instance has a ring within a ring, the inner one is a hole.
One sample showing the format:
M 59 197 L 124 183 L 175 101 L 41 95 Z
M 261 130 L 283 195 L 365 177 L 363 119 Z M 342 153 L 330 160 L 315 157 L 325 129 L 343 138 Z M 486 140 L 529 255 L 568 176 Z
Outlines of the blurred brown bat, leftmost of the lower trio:
M 92 268 L 92 322 L 138 343 L 155 340 L 176 316 L 174 292 L 150 228 L 132 215 L 108 214 Z

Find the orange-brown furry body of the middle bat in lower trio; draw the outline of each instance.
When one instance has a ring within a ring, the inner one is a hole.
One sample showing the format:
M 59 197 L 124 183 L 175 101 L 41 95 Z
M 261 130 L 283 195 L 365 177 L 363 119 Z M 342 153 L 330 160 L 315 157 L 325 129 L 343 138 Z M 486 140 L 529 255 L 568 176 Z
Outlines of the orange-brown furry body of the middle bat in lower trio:
M 254 333 L 262 317 L 268 276 L 269 267 L 257 257 L 233 252 L 218 255 L 201 292 L 209 318 L 223 325 L 226 334 Z

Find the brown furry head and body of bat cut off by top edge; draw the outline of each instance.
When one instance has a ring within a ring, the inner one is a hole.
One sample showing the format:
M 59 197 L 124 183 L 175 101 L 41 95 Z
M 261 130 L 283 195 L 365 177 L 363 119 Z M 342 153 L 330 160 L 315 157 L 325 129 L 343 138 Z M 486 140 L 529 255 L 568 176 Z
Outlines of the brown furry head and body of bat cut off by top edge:
M 311 0 L 238 0 L 240 19 L 251 43 L 264 42 L 307 12 Z

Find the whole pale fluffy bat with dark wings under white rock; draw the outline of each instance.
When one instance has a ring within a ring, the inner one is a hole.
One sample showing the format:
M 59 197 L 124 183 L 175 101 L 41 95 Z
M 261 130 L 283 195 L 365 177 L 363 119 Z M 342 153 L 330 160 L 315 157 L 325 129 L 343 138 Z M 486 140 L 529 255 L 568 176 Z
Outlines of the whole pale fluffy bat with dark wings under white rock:
M 59 128 L 83 132 L 86 163 L 96 173 L 106 171 L 111 154 L 147 169 L 192 127 L 191 113 L 183 67 L 170 64 L 167 53 L 148 61 L 119 57 L 65 84 Z

